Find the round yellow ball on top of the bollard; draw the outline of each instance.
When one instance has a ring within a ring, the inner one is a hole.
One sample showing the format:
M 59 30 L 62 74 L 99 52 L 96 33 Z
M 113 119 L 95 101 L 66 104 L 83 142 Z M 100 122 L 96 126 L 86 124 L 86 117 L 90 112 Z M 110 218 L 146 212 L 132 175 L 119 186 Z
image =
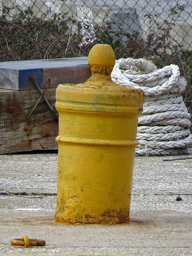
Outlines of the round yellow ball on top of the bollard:
M 92 66 L 114 66 L 115 53 L 108 44 L 96 44 L 92 47 L 88 56 L 88 64 Z

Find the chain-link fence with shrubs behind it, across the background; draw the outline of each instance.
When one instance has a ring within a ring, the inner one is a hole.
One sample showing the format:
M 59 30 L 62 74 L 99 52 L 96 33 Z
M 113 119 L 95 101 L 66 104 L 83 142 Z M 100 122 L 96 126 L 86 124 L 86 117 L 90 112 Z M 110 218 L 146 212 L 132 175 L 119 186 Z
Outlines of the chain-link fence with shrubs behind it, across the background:
M 0 61 L 87 56 L 98 43 L 117 59 L 178 64 L 192 84 L 192 1 L 0 1 Z

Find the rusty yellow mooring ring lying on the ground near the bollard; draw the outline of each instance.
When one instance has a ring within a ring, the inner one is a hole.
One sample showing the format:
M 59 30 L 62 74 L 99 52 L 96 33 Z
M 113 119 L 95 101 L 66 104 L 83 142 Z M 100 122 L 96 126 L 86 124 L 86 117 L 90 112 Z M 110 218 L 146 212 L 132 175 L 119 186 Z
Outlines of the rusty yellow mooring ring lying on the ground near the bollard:
M 28 236 L 22 236 L 22 238 L 16 238 L 11 240 L 11 244 L 13 245 L 20 245 L 20 246 L 44 246 L 46 244 L 45 240 L 41 239 L 33 239 L 33 238 L 28 238 Z

